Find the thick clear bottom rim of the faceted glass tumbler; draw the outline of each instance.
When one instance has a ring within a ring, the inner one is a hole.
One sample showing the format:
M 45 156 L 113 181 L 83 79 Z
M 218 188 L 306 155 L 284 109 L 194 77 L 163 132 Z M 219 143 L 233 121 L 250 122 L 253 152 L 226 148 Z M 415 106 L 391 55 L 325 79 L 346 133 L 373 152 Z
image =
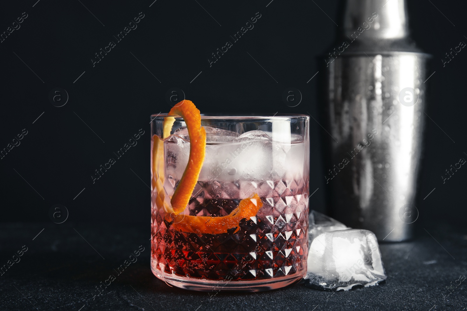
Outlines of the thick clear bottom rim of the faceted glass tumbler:
M 292 276 L 282 276 L 271 278 L 269 280 L 252 280 L 252 281 L 210 281 L 205 279 L 196 279 L 191 277 L 177 276 L 174 274 L 161 273 L 160 270 L 152 269 L 152 273 L 161 281 L 185 290 L 211 291 L 217 293 L 219 291 L 265 291 L 276 290 L 287 285 L 297 283 L 303 275 L 294 274 Z

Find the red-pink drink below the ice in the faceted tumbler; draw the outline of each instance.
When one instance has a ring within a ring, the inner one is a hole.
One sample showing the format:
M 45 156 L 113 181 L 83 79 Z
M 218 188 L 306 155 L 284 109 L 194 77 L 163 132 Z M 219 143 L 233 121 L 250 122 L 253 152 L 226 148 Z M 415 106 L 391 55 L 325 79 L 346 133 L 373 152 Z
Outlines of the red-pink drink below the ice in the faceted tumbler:
M 198 191 L 196 191 L 198 189 Z M 152 207 L 151 268 L 161 277 L 211 281 L 253 281 L 306 273 L 308 184 L 300 180 L 198 182 L 184 214 L 225 216 L 245 193 L 257 193 L 263 206 L 243 219 L 240 230 L 195 234 L 174 230 L 163 208 Z

